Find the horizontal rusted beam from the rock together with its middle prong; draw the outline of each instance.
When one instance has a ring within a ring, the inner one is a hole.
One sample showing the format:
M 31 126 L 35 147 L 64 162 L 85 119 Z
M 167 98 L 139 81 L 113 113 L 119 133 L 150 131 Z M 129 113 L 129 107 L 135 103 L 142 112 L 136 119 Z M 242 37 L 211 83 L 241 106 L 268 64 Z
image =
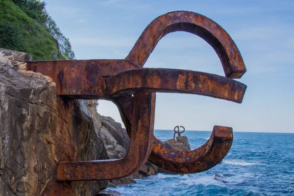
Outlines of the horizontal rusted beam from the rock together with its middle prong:
M 134 93 L 162 92 L 204 95 L 241 103 L 246 89 L 245 84 L 220 75 L 176 69 L 135 69 L 132 67 L 136 66 L 134 63 L 123 67 L 133 69 L 117 73 L 117 70 L 122 70 L 116 67 L 119 60 L 108 63 L 108 72 L 105 73 L 114 75 L 106 77 L 103 76 L 105 73 L 98 73 L 100 61 L 105 63 L 105 60 L 91 60 L 98 66 L 89 66 L 90 62 L 84 60 L 50 64 L 33 62 L 28 69 L 33 67 L 36 72 L 52 77 L 59 84 L 57 94 L 72 98 L 107 99 Z

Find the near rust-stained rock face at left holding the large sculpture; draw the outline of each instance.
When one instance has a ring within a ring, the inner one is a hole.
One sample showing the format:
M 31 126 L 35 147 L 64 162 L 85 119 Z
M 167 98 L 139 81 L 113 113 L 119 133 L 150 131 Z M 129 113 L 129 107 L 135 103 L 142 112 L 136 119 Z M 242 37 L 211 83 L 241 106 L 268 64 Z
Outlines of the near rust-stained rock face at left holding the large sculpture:
M 106 159 L 82 100 L 56 98 L 28 54 L 0 49 L 0 196 L 95 196 L 107 181 L 57 182 L 61 161 Z M 87 105 L 86 105 L 87 106 Z

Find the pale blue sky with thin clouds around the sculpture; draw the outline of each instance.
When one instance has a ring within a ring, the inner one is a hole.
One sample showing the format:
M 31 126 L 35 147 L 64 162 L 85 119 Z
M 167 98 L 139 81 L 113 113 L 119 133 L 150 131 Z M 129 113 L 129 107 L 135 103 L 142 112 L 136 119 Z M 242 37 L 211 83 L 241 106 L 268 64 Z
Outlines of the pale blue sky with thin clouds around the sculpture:
M 175 10 L 200 13 L 233 38 L 247 68 L 242 104 L 196 95 L 157 93 L 155 129 L 294 132 L 293 0 L 47 0 L 47 11 L 70 39 L 77 59 L 123 59 L 145 27 Z M 186 32 L 168 34 L 145 67 L 223 75 L 215 51 Z M 99 100 L 98 112 L 121 122 L 118 109 Z

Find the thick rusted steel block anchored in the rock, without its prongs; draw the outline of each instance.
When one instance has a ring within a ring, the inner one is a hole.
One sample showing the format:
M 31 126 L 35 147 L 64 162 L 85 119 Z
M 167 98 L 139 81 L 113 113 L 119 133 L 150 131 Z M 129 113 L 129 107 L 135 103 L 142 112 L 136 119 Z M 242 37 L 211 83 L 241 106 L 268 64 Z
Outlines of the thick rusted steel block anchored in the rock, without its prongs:
M 127 60 L 105 59 L 32 61 L 27 66 L 28 70 L 51 77 L 57 84 L 57 95 L 84 99 L 105 98 L 106 78 L 134 68 L 140 66 Z

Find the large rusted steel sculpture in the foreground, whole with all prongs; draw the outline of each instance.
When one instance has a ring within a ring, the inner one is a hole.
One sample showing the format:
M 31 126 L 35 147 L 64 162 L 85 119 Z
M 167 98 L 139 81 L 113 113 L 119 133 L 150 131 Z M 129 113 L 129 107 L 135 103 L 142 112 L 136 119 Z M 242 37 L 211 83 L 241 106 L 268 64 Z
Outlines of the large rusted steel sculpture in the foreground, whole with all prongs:
M 211 45 L 226 77 L 189 70 L 143 68 L 158 41 L 175 31 L 193 33 Z M 229 151 L 232 128 L 214 126 L 210 139 L 192 151 L 166 148 L 153 136 L 155 92 L 203 95 L 241 103 L 246 90 L 245 84 L 232 79 L 246 72 L 234 41 L 214 21 L 188 11 L 170 12 L 153 20 L 123 60 L 34 61 L 27 63 L 27 69 L 50 76 L 56 83 L 57 96 L 113 101 L 131 138 L 129 152 L 122 159 L 61 162 L 57 180 L 120 178 L 139 170 L 148 158 L 172 172 L 208 170 Z

